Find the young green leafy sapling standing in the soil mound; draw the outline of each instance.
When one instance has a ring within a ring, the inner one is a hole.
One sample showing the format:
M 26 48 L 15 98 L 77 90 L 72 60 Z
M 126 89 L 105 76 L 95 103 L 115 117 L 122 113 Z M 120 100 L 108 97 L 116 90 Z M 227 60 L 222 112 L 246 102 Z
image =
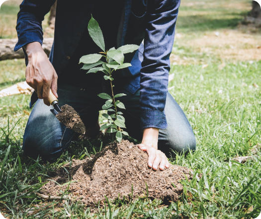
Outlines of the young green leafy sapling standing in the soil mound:
M 125 127 L 125 119 L 120 109 L 125 109 L 125 106 L 117 98 L 125 96 L 124 93 L 114 94 L 113 74 L 119 70 L 128 68 L 130 63 L 124 63 L 124 54 L 132 53 L 139 48 L 137 45 L 124 45 L 118 49 L 110 48 L 105 50 L 104 38 L 98 22 L 91 16 L 88 22 L 88 32 L 94 43 L 102 50 L 98 54 L 89 54 L 81 57 L 80 63 L 84 63 L 83 70 L 88 70 L 87 73 L 103 72 L 103 78 L 109 81 L 111 88 L 111 96 L 107 93 L 100 93 L 98 96 L 105 99 L 106 102 L 102 106 L 103 110 L 107 110 L 107 113 L 103 113 L 102 116 L 107 119 L 107 123 L 100 127 L 100 130 L 107 129 L 107 133 L 115 133 L 117 142 L 121 142 L 122 136 L 128 136 L 128 133 L 123 129 Z M 103 60 L 103 61 L 102 61 Z M 110 113 L 108 113 L 110 112 Z

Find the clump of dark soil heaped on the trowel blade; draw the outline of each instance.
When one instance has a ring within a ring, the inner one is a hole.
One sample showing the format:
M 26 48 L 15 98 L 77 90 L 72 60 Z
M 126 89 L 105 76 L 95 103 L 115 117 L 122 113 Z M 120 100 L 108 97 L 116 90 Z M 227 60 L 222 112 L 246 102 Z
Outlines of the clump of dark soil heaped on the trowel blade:
M 70 105 L 65 104 L 61 107 L 61 110 L 62 112 L 58 113 L 56 115 L 56 118 L 67 128 L 72 129 L 77 133 L 85 134 L 85 124 L 83 123 L 75 109 Z

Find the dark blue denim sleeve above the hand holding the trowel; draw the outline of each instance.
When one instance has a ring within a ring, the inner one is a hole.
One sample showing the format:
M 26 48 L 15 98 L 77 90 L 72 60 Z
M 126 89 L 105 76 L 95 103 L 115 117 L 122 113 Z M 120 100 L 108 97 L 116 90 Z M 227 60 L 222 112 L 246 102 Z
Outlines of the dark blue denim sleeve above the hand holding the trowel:
M 43 43 L 42 21 L 55 0 L 23 0 L 17 14 L 18 42 L 14 51 L 31 42 Z

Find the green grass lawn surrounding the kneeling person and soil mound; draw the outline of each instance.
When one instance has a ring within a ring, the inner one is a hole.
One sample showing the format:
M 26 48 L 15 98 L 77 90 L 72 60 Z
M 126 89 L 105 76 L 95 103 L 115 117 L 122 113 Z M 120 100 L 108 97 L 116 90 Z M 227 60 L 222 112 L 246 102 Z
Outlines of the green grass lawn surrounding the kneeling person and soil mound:
M 190 5 L 191 2 L 195 4 Z M 215 55 L 198 54 L 193 47 L 184 44 L 196 34 L 204 35 L 208 29 L 235 29 L 235 20 L 243 19 L 250 4 L 248 0 L 237 1 L 246 8 L 235 6 L 231 9 L 231 18 L 228 18 L 230 10 L 225 8 L 224 1 L 206 2 L 182 1 L 184 6 L 181 3 L 177 32 L 183 38 L 176 39 L 174 54 L 181 58 L 193 58 L 197 62 L 172 65 L 171 68 L 174 79 L 169 83 L 169 91 L 187 115 L 197 141 L 195 152 L 187 156 L 176 155 L 171 160 L 173 164 L 189 167 L 196 173 L 191 181 L 182 182 L 184 192 L 179 201 L 164 206 L 160 200 L 146 198 L 131 203 L 111 200 L 93 212 L 93 209 L 86 209 L 76 201 L 46 202 L 38 198 L 35 192 L 45 182 L 49 171 L 70 162 L 72 158 L 82 159 L 95 153 L 100 149 L 101 142 L 73 142 L 69 150 L 53 164 L 24 157 L 21 144 L 30 112 L 29 95 L 16 95 L 0 98 L 1 213 L 17 219 L 250 219 L 259 215 L 261 61 L 221 60 Z M 196 26 L 195 20 L 189 23 L 188 20 L 193 18 L 191 16 L 205 12 L 207 17 L 201 17 L 205 23 L 200 24 L 200 20 L 197 20 Z M 225 23 L 213 22 L 215 19 L 222 21 L 222 17 L 226 19 Z M 0 89 L 24 80 L 24 68 L 23 60 L 1 61 Z M 105 142 L 102 143 L 104 145 Z M 253 147 L 257 147 L 258 151 L 253 152 Z M 234 157 L 246 155 L 250 158 L 245 163 L 233 160 Z M 253 211 L 248 212 L 251 207 Z

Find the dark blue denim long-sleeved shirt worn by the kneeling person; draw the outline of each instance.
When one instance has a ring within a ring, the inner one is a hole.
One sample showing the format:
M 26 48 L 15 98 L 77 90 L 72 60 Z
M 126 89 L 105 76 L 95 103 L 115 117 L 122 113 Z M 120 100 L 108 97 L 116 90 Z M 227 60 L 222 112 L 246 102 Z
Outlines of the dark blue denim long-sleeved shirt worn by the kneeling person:
M 17 15 L 18 42 L 14 51 L 30 42 L 42 44 L 41 23 L 54 1 L 22 1 Z M 121 76 L 127 81 L 125 88 L 129 92 L 135 93 L 140 89 L 142 128 L 165 129 L 167 121 L 164 108 L 168 92 L 170 54 L 180 0 L 124 1 L 117 47 L 137 44 L 140 48 L 125 58 L 125 62 L 130 62 L 132 66 L 127 72 L 122 72 Z M 91 0 L 57 1 L 54 42 L 49 59 L 58 76 L 68 64 L 69 57 L 87 28 L 92 5 Z M 26 54 L 25 59 L 27 63 Z

